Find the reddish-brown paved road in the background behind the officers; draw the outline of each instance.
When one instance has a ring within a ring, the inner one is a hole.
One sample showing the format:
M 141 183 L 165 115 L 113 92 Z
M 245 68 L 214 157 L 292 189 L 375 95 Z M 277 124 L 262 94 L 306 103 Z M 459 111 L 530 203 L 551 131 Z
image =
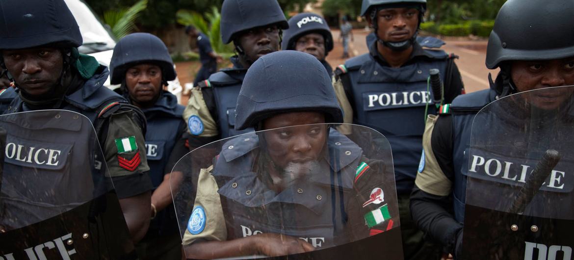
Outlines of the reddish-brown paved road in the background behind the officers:
M 365 30 L 353 30 L 354 41 L 351 42 L 351 56 L 362 55 L 369 52 L 367 49 L 365 37 L 368 32 Z M 339 31 L 333 30 L 333 38 L 335 39 L 335 48 L 329 56 L 327 61 L 333 66 L 343 64 L 344 60 L 341 59 L 343 55 L 343 46 L 339 41 Z M 464 41 L 464 40 L 445 40 L 446 45 L 443 46 L 445 52 L 455 53 L 460 58 L 456 60 L 456 65 L 459 67 L 461 76 L 463 77 L 464 86 L 467 92 L 477 90 L 484 90 L 488 88 L 488 73 L 492 72 L 492 77 L 495 77 L 497 71 L 492 71 L 486 68 L 484 60 L 486 59 L 486 40 L 480 41 Z

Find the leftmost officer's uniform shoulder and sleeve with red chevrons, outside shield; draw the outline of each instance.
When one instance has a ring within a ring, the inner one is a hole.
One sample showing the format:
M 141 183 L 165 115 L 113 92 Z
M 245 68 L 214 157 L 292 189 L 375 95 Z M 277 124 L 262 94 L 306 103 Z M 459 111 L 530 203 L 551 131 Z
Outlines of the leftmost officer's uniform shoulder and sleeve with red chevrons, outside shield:
M 66 95 L 61 107 L 56 108 L 78 112 L 90 119 L 98 134 L 118 198 L 124 199 L 152 188 L 142 134 L 145 131 L 145 119 L 122 96 L 103 86 L 108 75 L 108 69 L 100 65 L 90 79 L 80 80 L 82 85 L 71 86 L 76 91 Z M 18 95 L 4 114 L 37 109 L 30 107 Z M 129 149 L 120 148 L 117 142 L 123 138 L 133 139 L 135 145 Z

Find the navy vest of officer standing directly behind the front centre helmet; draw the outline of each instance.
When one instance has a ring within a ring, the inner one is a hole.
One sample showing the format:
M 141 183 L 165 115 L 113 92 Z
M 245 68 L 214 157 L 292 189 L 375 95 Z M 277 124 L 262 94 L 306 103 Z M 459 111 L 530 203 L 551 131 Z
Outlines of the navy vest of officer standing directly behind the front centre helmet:
M 214 92 L 215 105 L 219 117 L 218 126 L 221 138 L 232 137 L 239 134 L 252 132 L 253 129 L 235 130 L 235 106 L 243 77 L 247 69 L 230 68 L 222 69 L 214 73 L 208 80 L 208 86 L 201 84 L 202 87 L 212 87 Z

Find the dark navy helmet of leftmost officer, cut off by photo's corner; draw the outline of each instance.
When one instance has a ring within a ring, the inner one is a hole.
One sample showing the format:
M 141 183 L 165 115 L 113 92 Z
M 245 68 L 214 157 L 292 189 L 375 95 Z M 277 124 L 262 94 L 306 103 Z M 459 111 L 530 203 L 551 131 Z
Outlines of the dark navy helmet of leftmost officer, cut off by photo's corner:
M 0 49 L 77 47 L 82 34 L 64 0 L 0 1 Z

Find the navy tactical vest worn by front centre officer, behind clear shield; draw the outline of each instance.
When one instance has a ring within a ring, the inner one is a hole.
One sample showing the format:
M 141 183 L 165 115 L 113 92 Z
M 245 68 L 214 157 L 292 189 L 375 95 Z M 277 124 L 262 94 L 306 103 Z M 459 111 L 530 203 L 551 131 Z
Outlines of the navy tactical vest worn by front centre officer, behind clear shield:
M 287 234 L 302 238 L 315 247 L 331 247 L 352 242 L 344 234 L 348 201 L 353 189 L 354 170 L 361 158 L 361 149 L 344 135 L 331 131 L 329 154 L 353 156 L 338 157 L 338 163 L 329 158 L 321 160 L 321 174 L 313 174 L 308 181 L 292 185 L 281 193 L 267 188 L 251 172 L 257 151 L 256 134 L 231 139 L 215 163 L 212 175 L 218 183 L 219 195 L 226 219 L 227 238 L 236 239 L 261 233 Z M 340 159 L 340 160 L 339 160 Z M 238 169 L 249 169 L 241 172 Z M 332 192 L 332 185 L 342 192 Z

